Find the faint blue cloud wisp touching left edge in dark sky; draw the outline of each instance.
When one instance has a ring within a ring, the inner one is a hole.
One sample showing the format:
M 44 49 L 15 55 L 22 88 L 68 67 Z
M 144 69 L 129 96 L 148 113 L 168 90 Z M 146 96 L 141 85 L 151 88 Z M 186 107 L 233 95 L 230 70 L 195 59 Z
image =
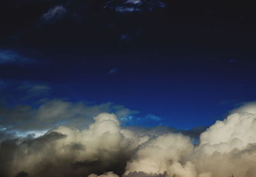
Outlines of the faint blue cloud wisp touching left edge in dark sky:
M 29 62 L 32 62 L 32 59 L 28 59 L 27 57 L 20 55 L 18 52 L 13 50 L 0 50 L 0 64 L 22 64 Z

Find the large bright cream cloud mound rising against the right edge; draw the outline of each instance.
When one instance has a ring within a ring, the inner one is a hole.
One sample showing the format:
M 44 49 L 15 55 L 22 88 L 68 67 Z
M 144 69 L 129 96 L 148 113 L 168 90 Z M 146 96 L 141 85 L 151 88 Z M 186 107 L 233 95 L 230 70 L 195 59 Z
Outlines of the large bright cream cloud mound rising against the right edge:
M 256 105 L 248 103 L 233 112 L 201 134 L 193 154 L 198 171 L 214 177 L 255 176 Z

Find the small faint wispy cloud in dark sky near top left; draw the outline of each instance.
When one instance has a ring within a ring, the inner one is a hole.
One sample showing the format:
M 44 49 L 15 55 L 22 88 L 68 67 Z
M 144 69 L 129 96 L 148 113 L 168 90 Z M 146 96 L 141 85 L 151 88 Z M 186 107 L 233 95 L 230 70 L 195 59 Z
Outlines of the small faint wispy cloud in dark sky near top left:
M 61 20 L 61 18 L 65 17 L 66 14 L 67 9 L 64 6 L 59 5 L 48 10 L 41 18 L 44 22 L 51 23 Z

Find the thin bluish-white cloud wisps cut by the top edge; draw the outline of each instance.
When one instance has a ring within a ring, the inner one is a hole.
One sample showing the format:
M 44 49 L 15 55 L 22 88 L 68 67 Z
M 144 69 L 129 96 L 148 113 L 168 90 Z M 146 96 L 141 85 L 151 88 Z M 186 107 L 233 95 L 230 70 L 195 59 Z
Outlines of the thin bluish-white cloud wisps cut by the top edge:
M 132 13 L 136 11 L 153 11 L 165 6 L 165 3 L 157 0 L 115 0 L 108 1 L 105 8 L 115 10 L 118 13 Z

